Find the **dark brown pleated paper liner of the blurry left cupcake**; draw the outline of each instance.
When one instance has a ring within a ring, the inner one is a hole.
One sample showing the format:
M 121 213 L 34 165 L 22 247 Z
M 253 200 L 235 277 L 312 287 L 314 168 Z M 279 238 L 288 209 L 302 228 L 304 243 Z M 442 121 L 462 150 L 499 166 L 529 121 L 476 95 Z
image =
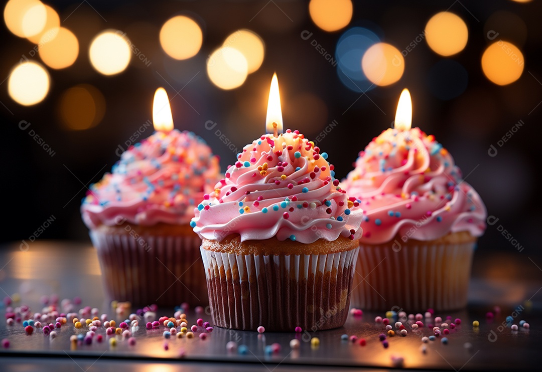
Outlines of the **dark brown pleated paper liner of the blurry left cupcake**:
M 109 299 L 133 305 L 207 305 L 198 236 L 91 231 Z

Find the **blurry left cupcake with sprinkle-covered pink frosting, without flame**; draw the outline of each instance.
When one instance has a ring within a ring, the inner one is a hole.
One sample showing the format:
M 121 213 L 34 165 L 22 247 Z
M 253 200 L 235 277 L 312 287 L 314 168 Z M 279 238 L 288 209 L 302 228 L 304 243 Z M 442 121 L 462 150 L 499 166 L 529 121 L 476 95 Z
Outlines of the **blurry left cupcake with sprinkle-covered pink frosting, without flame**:
M 193 210 L 220 178 L 218 159 L 191 132 L 155 132 L 121 155 L 81 205 L 110 299 L 207 303 Z

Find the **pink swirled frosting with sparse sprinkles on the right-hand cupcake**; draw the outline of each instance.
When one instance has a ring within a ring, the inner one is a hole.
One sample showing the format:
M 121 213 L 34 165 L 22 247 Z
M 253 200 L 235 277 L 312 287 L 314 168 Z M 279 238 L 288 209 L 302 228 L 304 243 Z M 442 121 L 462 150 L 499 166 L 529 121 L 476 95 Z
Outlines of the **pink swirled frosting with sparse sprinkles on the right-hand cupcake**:
M 359 153 L 341 187 L 361 201 L 362 243 L 397 236 L 404 242 L 434 240 L 461 231 L 478 237 L 486 229 L 486 207 L 461 177 L 433 135 L 387 129 Z

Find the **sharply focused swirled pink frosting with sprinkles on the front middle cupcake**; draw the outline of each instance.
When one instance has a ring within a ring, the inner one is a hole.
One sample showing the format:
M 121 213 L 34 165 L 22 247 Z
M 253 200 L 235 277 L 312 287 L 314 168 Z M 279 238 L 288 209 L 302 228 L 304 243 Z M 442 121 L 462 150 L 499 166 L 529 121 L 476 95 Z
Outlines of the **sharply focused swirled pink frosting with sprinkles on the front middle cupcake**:
M 205 195 L 191 226 L 201 237 L 313 243 L 358 239 L 362 210 L 333 179 L 327 154 L 297 130 L 263 135 L 243 148 L 216 190 Z

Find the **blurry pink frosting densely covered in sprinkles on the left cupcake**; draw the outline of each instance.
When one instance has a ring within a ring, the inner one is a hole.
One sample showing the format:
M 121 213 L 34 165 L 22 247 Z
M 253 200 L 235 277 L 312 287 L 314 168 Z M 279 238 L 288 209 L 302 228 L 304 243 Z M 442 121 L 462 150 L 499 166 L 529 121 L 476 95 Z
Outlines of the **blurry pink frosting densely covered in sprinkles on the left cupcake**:
M 219 179 L 218 158 L 192 132 L 155 132 L 127 149 L 81 205 L 89 228 L 128 221 L 185 225 Z

